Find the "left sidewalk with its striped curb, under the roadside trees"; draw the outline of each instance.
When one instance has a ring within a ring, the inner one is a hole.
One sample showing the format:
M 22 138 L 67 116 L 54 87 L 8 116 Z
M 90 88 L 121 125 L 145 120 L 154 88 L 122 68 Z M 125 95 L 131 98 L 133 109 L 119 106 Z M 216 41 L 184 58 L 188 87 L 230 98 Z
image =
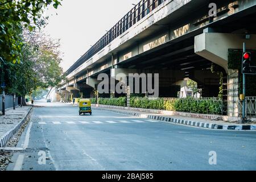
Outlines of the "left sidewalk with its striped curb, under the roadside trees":
M 6 115 L 0 115 L 0 147 L 5 146 L 8 140 L 19 130 L 31 110 L 31 106 L 6 109 Z

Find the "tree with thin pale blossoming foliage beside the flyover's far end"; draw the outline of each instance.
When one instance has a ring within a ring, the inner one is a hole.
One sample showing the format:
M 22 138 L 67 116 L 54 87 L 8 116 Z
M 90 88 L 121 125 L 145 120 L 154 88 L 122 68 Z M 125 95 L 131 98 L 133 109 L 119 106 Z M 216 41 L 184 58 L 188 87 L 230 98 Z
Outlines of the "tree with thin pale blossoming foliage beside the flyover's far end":
M 58 85 L 63 79 L 63 70 L 59 65 L 59 40 L 48 38 L 40 30 L 24 30 L 22 40 L 22 63 L 7 62 L 5 80 L 7 93 L 25 98 L 35 90 Z

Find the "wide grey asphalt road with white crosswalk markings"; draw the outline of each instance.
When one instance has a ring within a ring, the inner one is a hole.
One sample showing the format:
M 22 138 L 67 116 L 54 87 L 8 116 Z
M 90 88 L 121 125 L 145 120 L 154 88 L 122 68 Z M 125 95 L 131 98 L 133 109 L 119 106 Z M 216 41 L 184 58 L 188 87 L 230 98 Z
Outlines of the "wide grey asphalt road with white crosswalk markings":
M 254 131 L 199 129 L 97 109 L 79 116 L 70 105 L 35 107 L 17 147 L 26 150 L 15 152 L 7 170 L 256 169 Z M 216 164 L 209 164 L 210 151 Z

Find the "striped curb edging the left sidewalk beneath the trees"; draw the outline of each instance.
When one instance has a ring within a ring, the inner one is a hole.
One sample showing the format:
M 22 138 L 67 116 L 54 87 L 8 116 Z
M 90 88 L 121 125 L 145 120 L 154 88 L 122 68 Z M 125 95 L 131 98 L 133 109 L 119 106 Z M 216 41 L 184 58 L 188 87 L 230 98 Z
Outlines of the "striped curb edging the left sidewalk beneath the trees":
M 11 137 L 13 137 L 13 135 L 20 129 L 20 127 L 26 121 L 28 113 L 30 113 L 31 109 L 32 107 L 30 107 L 25 117 L 13 129 L 7 131 L 7 133 L 5 133 L 2 138 L 0 138 L 0 147 L 4 147 L 5 144 L 11 139 Z

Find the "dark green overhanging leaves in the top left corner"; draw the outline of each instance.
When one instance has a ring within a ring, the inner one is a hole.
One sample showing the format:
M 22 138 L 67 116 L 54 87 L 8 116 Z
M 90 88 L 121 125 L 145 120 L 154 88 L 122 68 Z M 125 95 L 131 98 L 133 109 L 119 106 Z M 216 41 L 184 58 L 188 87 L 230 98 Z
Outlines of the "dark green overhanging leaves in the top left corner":
M 57 0 L 0 0 L 0 57 L 11 63 L 20 63 L 22 57 L 22 30 L 34 30 L 41 26 L 43 9 L 53 4 L 60 5 Z M 44 6 L 43 6 L 44 5 Z

